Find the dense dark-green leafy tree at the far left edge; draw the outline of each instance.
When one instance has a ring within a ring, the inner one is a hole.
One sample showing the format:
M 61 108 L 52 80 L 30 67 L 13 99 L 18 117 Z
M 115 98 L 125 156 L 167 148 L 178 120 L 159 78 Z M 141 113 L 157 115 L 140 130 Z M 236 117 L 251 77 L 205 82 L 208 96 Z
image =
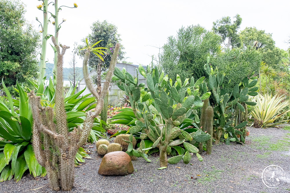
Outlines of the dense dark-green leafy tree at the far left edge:
M 39 34 L 25 20 L 25 12 L 21 1 L 0 0 L 0 78 L 14 94 L 17 80 L 37 78 L 38 71 Z

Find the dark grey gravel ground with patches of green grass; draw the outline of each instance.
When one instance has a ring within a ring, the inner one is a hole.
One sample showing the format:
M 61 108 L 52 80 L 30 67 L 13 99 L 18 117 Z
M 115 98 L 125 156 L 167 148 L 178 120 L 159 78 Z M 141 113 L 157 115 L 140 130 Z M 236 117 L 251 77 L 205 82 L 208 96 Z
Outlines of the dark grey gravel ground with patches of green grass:
M 149 156 L 151 163 L 138 158 L 133 161 L 135 172 L 127 176 L 101 176 L 98 169 L 102 158 L 97 153 L 75 168 L 75 185 L 71 193 L 90 192 L 287 192 L 290 193 L 290 131 L 282 128 L 249 128 L 246 144 L 219 144 L 211 155 L 203 152 L 204 161 L 196 157 L 191 164 L 182 162 L 159 168 L 158 156 Z M 93 150 L 94 148 L 92 148 Z M 261 179 L 264 168 L 278 165 L 284 169 L 288 182 L 278 188 L 267 188 Z M 37 190 L 30 190 L 37 189 Z M 53 192 L 48 180 L 34 179 L 25 174 L 18 183 L 0 183 L 0 193 Z M 62 192 L 62 191 L 61 191 Z

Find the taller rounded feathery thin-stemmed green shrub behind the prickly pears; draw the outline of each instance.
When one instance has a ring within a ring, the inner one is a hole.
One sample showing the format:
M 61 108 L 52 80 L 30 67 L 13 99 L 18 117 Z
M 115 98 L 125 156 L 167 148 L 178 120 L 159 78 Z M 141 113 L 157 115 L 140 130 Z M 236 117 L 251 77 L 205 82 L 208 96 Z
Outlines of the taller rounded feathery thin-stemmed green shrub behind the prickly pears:
M 194 77 L 195 80 L 206 76 L 204 65 L 210 54 L 211 58 L 221 52 L 221 37 L 209 32 L 200 25 L 182 27 L 177 36 L 169 36 L 162 47 L 160 65 L 168 78 L 175 80 L 176 74 L 182 81 Z

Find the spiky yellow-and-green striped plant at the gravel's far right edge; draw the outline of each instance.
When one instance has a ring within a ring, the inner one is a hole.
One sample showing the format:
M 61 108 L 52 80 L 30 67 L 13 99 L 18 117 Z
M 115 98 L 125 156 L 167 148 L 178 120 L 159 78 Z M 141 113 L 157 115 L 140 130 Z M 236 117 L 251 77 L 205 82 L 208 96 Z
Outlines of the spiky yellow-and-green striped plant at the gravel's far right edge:
M 277 121 L 281 116 L 288 113 L 290 110 L 285 111 L 284 108 L 289 106 L 289 101 L 284 101 L 285 96 L 269 95 L 264 96 L 260 93 L 254 97 L 254 101 L 257 103 L 251 114 L 253 117 L 262 121 L 263 127 L 273 127 L 289 120 Z

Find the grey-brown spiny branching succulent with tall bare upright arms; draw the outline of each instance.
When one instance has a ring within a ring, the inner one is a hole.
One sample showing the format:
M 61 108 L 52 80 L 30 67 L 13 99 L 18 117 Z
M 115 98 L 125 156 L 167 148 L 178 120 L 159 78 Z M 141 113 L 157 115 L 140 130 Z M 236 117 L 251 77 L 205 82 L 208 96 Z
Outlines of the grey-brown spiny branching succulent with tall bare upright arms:
M 55 113 L 51 107 L 41 106 L 40 97 L 36 96 L 33 91 L 29 93 L 33 116 L 33 146 L 37 161 L 41 166 L 45 167 L 48 173 L 50 187 L 56 191 L 60 190 L 60 188 L 69 191 L 73 188 L 75 155 L 79 147 L 83 145 L 88 138 L 91 127 L 93 126 L 93 121 L 102 109 L 103 99 L 107 93 L 117 61 L 119 44 L 115 46 L 109 71 L 106 75 L 106 82 L 100 96 L 94 93 L 95 89 L 93 89 L 93 84 L 91 81 L 88 81 L 90 79 L 88 77 L 87 62 L 90 51 L 94 49 L 89 46 L 86 47 L 83 65 L 83 69 L 86 70 L 84 71 L 84 76 L 88 88 L 98 101 L 95 111 L 86 112 L 86 119 L 83 122 L 83 126 L 75 128 L 73 132 L 67 132 L 63 96 L 62 64 L 64 53 L 69 47 L 60 45 L 62 47 L 62 51 L 60 52 L 54 37 L 52 37 L 52 42 L 57 50 Z M 53 122 L 54 114 L 56 117 L 56 124 Z M 42 134 L 43 139 L 41 137 Z

